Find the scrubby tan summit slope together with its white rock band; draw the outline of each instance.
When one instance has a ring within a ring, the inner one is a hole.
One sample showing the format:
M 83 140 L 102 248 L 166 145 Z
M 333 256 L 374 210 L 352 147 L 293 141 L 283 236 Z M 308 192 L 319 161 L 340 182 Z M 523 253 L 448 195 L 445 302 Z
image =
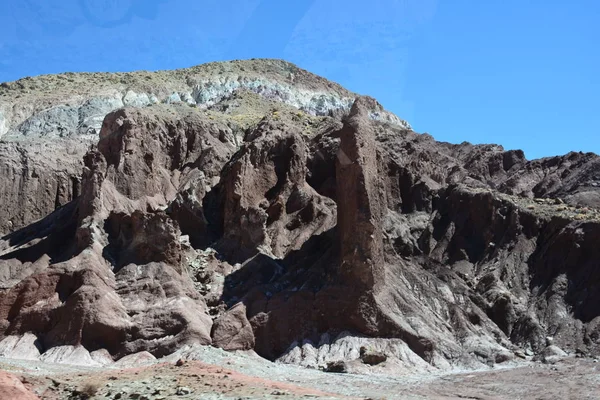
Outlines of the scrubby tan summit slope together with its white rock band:
M 210 107 L 239 90 L 313 115 L 347 113 L 355 97 L 341 86 L 281 60 L 211 63 L 154 73 L 48 75 L 0 86 L 0 137 L 93 134 L 106 114 L 121 107 L 157 103 Z M 28 102 L 32 99 L 35 101 Z M 408 127 L 380 105 L 372 108 L 369 116 Z

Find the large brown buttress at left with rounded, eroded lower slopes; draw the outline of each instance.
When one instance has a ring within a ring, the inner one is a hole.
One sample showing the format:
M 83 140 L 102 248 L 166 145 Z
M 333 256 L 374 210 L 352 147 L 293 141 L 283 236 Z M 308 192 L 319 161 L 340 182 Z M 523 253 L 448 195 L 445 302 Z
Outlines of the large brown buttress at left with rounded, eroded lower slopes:
M 99 151 L 86 156 L 82 194 L 62 211 L 70 210 L 64 218 L 74 224 L 62 252 L 49 259 L 43 254 L 50 246 L 37 249 L 57 240 L 58 226 L 35 245 L 35 231 L 9 239 L 14 249 L 4 258 L 41 265 L 0 297 L 4 335 L 34 332 L 43 349 L 82 344 L 115 357 L 211 342 L 208 310 L 183 260 L 189 248 L 164 210 L 180 187 L 196 182 L 186 179 L 194 163 L 210 177 L 218 157 L 205 163 L 203 154 L 225 161 L 231 147 L 219 137 L 227 128 L 185 108 L 144 111 L 106 118 Z

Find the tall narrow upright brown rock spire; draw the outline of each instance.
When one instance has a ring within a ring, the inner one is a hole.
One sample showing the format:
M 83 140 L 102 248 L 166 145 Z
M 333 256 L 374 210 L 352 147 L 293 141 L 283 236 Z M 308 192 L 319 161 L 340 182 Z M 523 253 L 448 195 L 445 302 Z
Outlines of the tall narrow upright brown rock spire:
M 368 103 L 361 97 L 340 132 L 336 177 L 340 275 L 349 285 L 371 289 L 381 280 L 383 219 L 386 199 L 377 156 L 375 132 L 368 119 Z

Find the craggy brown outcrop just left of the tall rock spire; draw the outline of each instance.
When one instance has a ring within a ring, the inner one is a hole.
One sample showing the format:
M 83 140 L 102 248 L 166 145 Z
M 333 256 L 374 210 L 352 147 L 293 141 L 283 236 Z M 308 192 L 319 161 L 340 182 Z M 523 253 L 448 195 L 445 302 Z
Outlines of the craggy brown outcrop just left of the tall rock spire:
M 285 257 L 335 226 L 335 203 L 306 183 L 307 146 L 296 129 L 263 121 L 225 167 L 221 248 L 234 260 L 259 249 Z

